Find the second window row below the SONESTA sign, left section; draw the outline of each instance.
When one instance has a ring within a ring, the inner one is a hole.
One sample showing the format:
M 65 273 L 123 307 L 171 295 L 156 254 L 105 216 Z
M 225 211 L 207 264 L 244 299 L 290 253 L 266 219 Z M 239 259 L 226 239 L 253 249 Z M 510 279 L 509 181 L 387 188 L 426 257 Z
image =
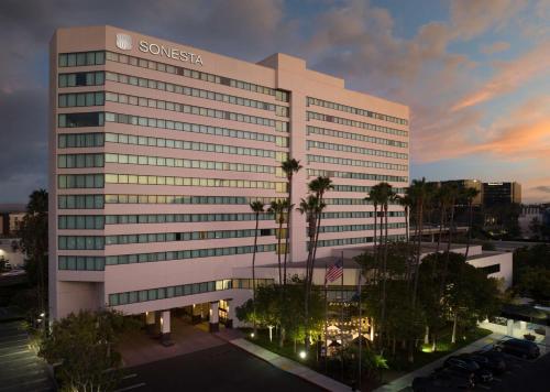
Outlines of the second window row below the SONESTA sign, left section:
M 122 83 L 125 85 L 140 86 L 144 88 L 152 88 L 162 91 L 180 94 L 189 97 L 197 97 L 204 99 L 216 100 L 220 102 L 245 106 L 249 108 L 261 109 L 274 111 L 275 115 L 280 117 L 288 117 L 288 108 L 279 105 L 268 104 L 255 99 L 237 97 L 222 92 L 215 92 L 209 90 L 204 90 L 200 88 L 187 87 L 182 85 L 175 85 L 168 81 L 161 81 L 154 79 L 146 79 L 138 76 L 130 76 L 117 73 L 106 73 L 107 80 Z

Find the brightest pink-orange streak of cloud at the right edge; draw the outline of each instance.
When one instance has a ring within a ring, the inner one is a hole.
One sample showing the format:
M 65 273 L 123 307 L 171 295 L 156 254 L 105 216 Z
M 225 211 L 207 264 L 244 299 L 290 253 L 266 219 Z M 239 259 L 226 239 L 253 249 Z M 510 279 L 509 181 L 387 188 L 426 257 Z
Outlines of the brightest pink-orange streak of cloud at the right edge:
M 495 76 L 455 102 L 451 110 L 457 111 L 491 100 L 515 90 L 537 76 L 544 75 L 550 69 L 549 53 L 550 41 L 544 41 L 518 58 L 495 64 L 497 69 Z

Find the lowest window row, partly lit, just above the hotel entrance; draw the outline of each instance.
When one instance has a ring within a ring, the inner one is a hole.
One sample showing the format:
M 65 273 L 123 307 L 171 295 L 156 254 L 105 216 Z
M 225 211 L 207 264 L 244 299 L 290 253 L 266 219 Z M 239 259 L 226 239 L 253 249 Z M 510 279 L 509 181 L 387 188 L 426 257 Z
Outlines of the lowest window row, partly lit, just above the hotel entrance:
M 134 292 L 124 292 L 109 294 L 109 306 L 127 305 L 138 302 L 157 301 L 186 296 L 201 293 L 231 288 L 252 288 L 251 279 L 233 279 L 223 281 L 211 281 L 202 283 L 180 284 L 177 286 L 140 290 Z M 273 279 L 256 279 L 256 286 L 273 284 Z

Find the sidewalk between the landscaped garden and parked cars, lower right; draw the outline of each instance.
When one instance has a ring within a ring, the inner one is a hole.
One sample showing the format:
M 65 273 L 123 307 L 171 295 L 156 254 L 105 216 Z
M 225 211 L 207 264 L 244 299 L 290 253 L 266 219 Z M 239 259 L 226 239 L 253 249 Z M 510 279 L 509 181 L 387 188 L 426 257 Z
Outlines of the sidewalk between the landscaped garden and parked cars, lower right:
M 420 369 L 417 369 L 417 370 L 415 370 L 410 373 L 407 373 L 398 379 L 395 379 L 394 381 L 392 381 L 385 385 L 382 385 L 381 388 L 376 389 L 375 392 L 389 392 L 389 391 L 396 392 L 396 391 L 408 390 L 408 388 L 413 383 L 413 380 L 416 377 L 426 377 L 426 375 L 430 374 L 435 369 L 443 366 L 444 360 L 447 358 L 449 358 L 450 356 L 457 356 L 457 355 L 462 353 L 462 352 L 472 352 L 475 350 L 481 350 L 485 346 L 495 344 L 496 341 L 501 340 L 503 337 L 504 337 L 504 335 L 501 335 L 501 334 L 491 334 L 488 336 L 485 336 L 484 338 L 475 340 L 472 344 L 470 344 L 470 345 L 468 345 L 468 346 L 465 346 L 457 351 L 453 351 L 453 352 L 449 353 L 448 356 L 441 357 L 441 358 L 435 360 L 433 362 L 430 362 L 430 363 L 424 366 Z

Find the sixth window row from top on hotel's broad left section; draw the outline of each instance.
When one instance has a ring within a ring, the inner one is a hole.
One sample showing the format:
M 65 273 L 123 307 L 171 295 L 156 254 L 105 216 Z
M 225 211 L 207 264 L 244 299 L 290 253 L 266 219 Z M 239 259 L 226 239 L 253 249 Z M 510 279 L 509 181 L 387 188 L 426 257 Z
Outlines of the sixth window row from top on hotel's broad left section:
M 230 172 L 250 172 L 250 173 L 267 173 L 267 174 L 277 173 L 277 176 L 279 177 L 284 176 L 280 166 L 267 166 L 267 165 L 255 165 L 255 164 L 232 163 L 232 162 L 184 160 L 178 157 L 108 153 L 105 154 L 105 162 L 131 164 L 131 165 L 202 168 L 202 170 L 230 171 Z

